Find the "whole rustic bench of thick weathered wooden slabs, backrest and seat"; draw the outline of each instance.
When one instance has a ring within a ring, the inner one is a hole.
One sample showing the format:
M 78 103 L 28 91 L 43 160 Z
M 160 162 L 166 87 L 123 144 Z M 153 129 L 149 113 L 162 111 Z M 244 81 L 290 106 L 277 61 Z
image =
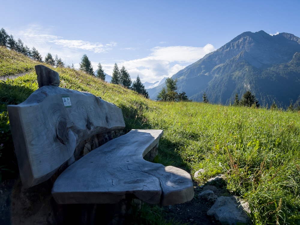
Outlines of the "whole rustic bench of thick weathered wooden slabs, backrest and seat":
M 117 203 L 133 196 L 172 205 L 193 198 L 189 173 L 144 159 L 156 155 L 162 130 L 131 130 L 112 139 L 125 128 L 121 109 L 58 87 L 58 73 L 45 66 L 37 65 L 36 72 L 40 88 L 23 103 L 7 106 L 24 187 L 59 175 L 52 187 L 58 204 Z

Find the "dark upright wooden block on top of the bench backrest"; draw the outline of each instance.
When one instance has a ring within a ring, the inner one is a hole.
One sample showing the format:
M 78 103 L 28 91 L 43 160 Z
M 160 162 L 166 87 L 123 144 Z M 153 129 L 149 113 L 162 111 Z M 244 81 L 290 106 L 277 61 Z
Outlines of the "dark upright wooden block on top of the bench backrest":
M 48 85 L 58 86 L 60 83 L 58 73 L 44 65 L 36 65 L 35 72 L 38 75 L 38 87 L 39 88 L 41 88 L 43 86 L 48 86 Z

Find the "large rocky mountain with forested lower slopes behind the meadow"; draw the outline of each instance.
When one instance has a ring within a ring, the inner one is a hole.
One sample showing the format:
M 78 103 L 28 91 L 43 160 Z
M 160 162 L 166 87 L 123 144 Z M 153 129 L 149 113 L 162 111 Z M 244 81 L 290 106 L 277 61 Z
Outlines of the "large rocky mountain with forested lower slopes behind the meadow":
M 300 38 L 289 33 L 244 32 L 172 76 L 193 101 L 230 104 L 250 90 L 262 106 L 300 103 Z M 158 86 L 150 93 L 158 93 Z M 150 98 L 154 99 L 150 95 Z

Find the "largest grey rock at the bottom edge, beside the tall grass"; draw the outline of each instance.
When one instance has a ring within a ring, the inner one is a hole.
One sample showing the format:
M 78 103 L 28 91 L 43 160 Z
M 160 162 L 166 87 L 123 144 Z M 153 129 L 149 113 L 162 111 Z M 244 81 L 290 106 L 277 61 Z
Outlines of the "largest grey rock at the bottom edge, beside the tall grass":
M 214 205 L 207 211 L 208 216 L 220 221 L 221 224 L 251 223 L 250 217 L 243 210 L 235 196 L 217 198 Z

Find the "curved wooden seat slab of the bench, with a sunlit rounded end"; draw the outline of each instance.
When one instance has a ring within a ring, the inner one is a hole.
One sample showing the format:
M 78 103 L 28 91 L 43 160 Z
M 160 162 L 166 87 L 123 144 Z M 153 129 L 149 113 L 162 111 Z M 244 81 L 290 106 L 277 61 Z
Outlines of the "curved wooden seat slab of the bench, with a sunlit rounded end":
M 117 203 L 127 194 L 151 204 L 172 205 L 194 196 L 190 174 L 143 159 L 162 130 L 131 130 L 70 165 L 55 181 L 60 204 Z

